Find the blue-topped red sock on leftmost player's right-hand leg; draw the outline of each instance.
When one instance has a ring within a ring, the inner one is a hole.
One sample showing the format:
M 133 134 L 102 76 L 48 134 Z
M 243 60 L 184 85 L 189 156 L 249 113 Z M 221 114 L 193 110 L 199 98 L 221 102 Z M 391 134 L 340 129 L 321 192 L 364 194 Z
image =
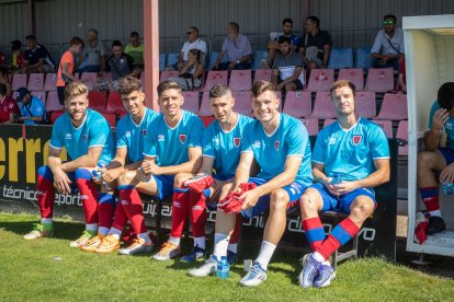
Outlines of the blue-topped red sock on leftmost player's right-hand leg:
M 86 222 L 98 223 L 98 190 L 91 182 L 91 173 L 86 169 L 78 169 L 75 177 L 82 200 Z

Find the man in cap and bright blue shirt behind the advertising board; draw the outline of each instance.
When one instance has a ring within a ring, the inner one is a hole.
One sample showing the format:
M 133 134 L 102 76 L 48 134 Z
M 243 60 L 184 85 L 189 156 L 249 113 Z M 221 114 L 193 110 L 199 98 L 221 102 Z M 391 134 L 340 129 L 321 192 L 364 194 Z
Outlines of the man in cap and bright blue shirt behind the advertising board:
M 24 125 L 43 124 L 46 119 L 46 106 L 43 101 L 32 95 L 26 88 L 18 89 L 16 94 L 15 101 L 21 111 L 21 117 L 18 118 L 18 123 L 24 123 Z

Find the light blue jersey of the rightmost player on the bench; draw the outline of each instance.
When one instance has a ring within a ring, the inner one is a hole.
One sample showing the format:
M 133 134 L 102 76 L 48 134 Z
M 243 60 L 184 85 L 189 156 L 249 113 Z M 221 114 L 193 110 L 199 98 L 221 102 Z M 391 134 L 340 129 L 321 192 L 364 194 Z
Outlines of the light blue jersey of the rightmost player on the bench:
M 342 181 L 359 181 L 375 172 L 374 160 L 389 159 L 388 140 L 383 129 L 365 118 L 349 130 L 338 121 L 317 137 L 313 162 L 325 165 L 325 174 L 340 175 Z

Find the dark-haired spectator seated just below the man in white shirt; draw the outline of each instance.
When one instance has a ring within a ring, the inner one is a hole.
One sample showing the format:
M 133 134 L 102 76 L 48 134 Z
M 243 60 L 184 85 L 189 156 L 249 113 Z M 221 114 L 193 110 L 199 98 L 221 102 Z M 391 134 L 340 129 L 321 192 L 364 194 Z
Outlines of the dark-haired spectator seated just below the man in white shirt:
M 191 49 L 188 53 L 188 63 L 181 69 L 178 77 L 169 80 L 177 82 L 183 91 L 200 88 L 202 77 L 205 74 L 205 66 L 201 62 L 201 50 Z

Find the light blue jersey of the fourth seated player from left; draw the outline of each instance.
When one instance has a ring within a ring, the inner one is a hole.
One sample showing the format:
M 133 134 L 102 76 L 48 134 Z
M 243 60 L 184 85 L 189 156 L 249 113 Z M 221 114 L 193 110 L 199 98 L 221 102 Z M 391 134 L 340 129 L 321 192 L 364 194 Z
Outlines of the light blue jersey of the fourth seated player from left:
M 226 132 L 219 121 L 214 120 L 203 133 L 203 156 L 213 158 L 217 175 L 226 179 L 235 176 L 240 152 L 245 127 L 253 119 L 238 115 L 234 129 Z

